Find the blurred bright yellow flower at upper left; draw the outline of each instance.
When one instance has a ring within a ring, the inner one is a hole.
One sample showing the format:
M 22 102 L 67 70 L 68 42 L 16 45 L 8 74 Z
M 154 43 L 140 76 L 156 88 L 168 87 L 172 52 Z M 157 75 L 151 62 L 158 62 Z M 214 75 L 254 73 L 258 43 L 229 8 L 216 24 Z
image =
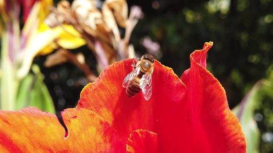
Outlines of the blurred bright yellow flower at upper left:
M 58 47 L 74 49 L 86 44 L 72 25 L 51 29 L 44 23 L 49 14 L 48 6 L 52 4 L 52 0 L 37 1 L 27 18 L 21 36 L 22 41 L 26 42 L 26 47 L 22 48 L 25 54 L 22 66 L 17 71 L 19 79 L 28 74 L 35 56 L 50 54 Z

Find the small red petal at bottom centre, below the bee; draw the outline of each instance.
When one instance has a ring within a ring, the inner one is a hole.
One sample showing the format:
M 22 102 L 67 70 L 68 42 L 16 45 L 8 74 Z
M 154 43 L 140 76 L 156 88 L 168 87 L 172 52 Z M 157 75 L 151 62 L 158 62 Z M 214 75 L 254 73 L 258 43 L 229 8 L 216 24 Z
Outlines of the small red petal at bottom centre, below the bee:
M 134 131 L 127 142 L 127 152 L 158 152 L 157 134 L 148 130 Z

